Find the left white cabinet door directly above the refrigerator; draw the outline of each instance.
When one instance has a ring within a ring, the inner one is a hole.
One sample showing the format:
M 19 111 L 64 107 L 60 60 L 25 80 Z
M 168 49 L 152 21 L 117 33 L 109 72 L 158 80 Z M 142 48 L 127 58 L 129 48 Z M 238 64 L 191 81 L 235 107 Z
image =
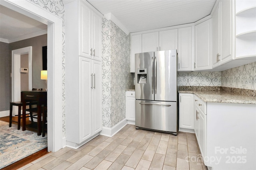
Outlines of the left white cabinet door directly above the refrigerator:
M 158 51 L 158 31 L 142 34 L 142 53 Z

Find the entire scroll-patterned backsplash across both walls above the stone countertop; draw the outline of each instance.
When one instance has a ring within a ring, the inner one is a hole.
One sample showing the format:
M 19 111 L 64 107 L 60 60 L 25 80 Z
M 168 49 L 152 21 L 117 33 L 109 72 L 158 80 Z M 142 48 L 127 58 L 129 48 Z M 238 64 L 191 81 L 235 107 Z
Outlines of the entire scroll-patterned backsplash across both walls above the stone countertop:
M 222 72 L 178 72 L 178 86 L 222 86 L 256 90 L 256 62 Z

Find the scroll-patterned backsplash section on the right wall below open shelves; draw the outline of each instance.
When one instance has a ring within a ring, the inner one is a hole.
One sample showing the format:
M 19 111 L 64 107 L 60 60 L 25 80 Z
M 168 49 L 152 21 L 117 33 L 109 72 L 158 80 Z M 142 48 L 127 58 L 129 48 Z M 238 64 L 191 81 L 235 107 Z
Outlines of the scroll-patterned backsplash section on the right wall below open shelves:
M 256 62 L 222 71 L 221 85 L 256 90 Z

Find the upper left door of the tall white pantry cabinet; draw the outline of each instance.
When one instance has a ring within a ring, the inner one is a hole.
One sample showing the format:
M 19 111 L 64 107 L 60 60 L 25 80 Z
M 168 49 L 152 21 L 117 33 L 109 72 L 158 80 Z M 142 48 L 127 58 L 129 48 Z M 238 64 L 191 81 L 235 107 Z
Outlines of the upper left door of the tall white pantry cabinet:
M 79 27 L 79 55 L 92 57 L 92 37 L 91 37 L 91 10 L 84 3 L 80 3 L 80 27 Z M 75 20 L 75 19 L 74 19 Z

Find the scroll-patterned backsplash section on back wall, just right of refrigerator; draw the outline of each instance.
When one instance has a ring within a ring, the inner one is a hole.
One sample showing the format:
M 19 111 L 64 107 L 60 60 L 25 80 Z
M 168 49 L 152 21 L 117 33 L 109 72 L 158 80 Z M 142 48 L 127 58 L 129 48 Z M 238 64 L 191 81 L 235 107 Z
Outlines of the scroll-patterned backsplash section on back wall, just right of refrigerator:
M 221 72 L 178 72 L 178 86 L 221 86 Z

